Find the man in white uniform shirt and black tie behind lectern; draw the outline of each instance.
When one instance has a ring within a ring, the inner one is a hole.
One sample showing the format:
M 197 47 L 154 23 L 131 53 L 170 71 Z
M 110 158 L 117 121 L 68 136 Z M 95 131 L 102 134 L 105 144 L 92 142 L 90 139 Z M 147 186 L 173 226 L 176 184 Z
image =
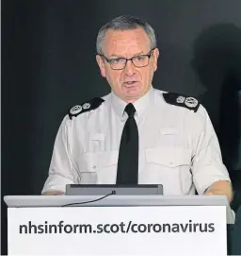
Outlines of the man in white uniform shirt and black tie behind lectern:
M 163 184 L 164 195 L 226 195 L 232 184 L 207 111 L 193 97 L 153 88 L 152 26 L 120 16 L 97 37 L 111 93 L 70 109 L 56 135 L 43 195 L 66 184 Z

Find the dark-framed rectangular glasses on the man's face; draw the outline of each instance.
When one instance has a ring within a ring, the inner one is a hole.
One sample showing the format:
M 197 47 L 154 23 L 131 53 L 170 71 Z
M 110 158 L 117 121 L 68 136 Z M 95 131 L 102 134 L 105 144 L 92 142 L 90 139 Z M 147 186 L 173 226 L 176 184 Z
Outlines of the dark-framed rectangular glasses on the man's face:
M 134 56 L 133 58 L 130 58 L 130 59 L 126 59 L 126 58 L 107 59 L 104 55 L 100 55 L 100 56 L 103 57 L 104 60 L 106 60 L 110 64 L 111 68 L 114 70 L 124 69 L 128 60 L 131 60 L 132 63 L 137 68 L 142 68 L 142 67 L 146 67 L 149 64 L 149 59 L 153 55 L 153 50 L 154 49 L 152 49 L 148 54 Z

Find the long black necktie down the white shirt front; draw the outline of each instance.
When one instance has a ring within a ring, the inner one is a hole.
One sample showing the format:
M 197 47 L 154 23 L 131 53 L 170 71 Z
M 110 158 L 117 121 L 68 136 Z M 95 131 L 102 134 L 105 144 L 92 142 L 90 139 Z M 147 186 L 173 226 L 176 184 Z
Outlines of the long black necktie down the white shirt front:
M 118 185 L 137 185 L 138 183 L 138 128 L 134 118 L 136 112 L 133 104 L 129 103 L 125 110 L 128 119 L 125 122 L 119 151 L 117 170 Z

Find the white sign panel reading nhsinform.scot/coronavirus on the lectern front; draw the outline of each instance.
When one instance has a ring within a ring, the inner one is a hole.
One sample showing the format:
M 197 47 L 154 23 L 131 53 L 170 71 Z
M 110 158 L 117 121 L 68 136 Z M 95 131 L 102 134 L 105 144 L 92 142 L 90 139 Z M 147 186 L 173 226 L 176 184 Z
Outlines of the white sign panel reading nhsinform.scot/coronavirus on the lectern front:
M 227 255 L 224 206 L 8 208 L 8 255 Z

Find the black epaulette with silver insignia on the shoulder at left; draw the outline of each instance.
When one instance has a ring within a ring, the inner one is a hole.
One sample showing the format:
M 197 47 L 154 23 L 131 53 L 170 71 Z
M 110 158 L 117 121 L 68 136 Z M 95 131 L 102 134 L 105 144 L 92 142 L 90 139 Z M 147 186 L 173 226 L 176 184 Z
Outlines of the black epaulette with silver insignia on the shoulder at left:
M 80 105 L 76 105 L 72 107 L 69 111 L 68 114 L 70 118 L 72 119 L 73 116 L 77 116 L 80 113 L 87 112 L 87 111 L 93 111 L 100 107 L 102 103 L 104 102 L 104 99 L 101 97 L 94 97 L 90 100 L 88 100 L 85 103 L 82 103 Z

